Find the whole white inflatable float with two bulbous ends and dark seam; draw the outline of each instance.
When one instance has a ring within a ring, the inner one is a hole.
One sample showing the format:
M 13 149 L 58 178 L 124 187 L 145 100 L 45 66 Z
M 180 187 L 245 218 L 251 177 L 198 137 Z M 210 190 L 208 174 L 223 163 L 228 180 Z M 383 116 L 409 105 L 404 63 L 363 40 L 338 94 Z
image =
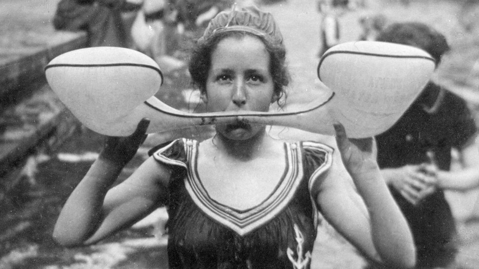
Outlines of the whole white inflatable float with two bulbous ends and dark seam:
M 59 99 L 86 127 L 100 134 L 133 133 L 144 117 L 148 133 L 232 123 L 282 125 L 334 134 L 339 121 L 349 137 L 380 134 L 391 127 L 430 79 L 435 64 L 415 47 L 360 41 L 329 49 L 318 66 L 331 91 L 295 112 L 186 113 L 154 94 L 162 74 L 156 62 L 135 50 L 92 47 L 70 51 L 46 67 L 46 78 Z

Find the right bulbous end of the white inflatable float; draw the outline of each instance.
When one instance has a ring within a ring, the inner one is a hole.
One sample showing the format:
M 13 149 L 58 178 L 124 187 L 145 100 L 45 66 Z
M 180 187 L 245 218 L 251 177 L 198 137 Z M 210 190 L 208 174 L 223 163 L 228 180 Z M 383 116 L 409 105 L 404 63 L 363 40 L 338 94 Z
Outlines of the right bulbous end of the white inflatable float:
M 432 77 L 435 60 L 407 45 L 358 41 L 327 50 L 318 77 L 336 95 L 328 105 L 349 136 L 381 134 L 416 99 Z

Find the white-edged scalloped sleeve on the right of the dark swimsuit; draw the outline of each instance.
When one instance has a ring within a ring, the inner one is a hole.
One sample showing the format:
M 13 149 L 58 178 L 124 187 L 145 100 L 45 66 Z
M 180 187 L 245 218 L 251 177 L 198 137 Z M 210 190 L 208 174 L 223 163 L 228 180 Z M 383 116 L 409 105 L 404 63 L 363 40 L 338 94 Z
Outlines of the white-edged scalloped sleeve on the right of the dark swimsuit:
M 314 200 L 319 192 L 319 186 L 324 175 L 332 165 L 332 153 L 334 149 L 318 142 L 303 142 L 303 166 L 308 179 L 308 189 Z

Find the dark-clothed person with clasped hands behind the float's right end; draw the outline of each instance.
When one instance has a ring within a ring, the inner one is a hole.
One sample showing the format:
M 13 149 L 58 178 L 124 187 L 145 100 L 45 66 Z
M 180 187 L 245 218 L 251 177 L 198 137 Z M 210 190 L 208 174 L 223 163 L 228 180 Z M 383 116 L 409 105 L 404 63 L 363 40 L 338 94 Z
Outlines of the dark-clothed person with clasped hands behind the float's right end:
M 443 34 L 420 22 L 393 23 L 376 40 L 419 47 L 436 64 L 450 50 Z M 467 103 L 433 82 L 392 128 L 376 136 L 377 161 L 411 226 L 418 268 L 454 264 L 456 224 L 444 190 L 479 185 L 476 137 Z M 455 170 L 450 170 L 452 149 L 458 154 Z

